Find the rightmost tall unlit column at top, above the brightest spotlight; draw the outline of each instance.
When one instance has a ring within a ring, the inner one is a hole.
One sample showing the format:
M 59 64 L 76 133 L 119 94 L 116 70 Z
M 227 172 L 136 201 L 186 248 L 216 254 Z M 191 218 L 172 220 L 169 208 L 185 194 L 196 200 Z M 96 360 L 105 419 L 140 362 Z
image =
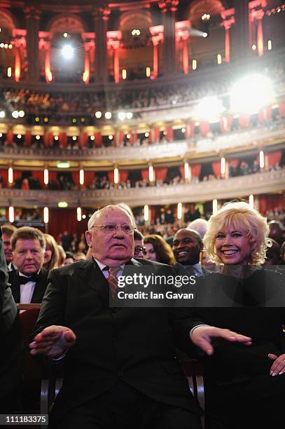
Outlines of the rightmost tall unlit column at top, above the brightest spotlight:
M 249 57 L 249 1 L 235 0 L 235 60 Z

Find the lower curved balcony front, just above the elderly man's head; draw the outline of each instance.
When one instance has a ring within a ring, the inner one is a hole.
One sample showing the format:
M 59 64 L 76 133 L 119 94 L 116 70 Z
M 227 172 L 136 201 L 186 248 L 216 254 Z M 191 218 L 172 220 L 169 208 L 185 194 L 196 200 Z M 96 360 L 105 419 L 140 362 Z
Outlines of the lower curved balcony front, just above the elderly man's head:
M 251 193 L 285 190 L 285 169 L 255 175 L 216 179 L 197 184 L 162 185 L 147 188 L 96 191 L 24 191 L 0 189 L 0 206 L 57 207 L 66 201 L 68 207 L 98 207 L 124 201 L 131 207 L 145 204 L 197 203 L 216 199 L 247 197 Z

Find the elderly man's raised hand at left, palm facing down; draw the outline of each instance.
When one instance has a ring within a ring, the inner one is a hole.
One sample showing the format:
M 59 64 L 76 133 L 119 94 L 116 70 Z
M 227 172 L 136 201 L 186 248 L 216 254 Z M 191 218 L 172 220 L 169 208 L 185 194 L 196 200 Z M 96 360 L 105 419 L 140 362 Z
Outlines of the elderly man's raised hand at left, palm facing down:
M 46 355 L 57 358 L 69 350 L 76 341 L 76 335 L 65 326 L 48 326 L 29 344 L 31 355 Z

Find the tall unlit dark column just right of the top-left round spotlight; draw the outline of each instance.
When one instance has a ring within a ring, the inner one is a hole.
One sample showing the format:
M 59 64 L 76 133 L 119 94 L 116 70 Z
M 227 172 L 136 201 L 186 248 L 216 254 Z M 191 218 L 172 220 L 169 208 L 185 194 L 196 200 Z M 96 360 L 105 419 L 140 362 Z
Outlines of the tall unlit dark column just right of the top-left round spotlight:
M 107 62 L 107 26 L 111 11 L 106 1 L 97 1 L 93 10 L 95 26 L 95 81 L 103 83 L 108 80 Z

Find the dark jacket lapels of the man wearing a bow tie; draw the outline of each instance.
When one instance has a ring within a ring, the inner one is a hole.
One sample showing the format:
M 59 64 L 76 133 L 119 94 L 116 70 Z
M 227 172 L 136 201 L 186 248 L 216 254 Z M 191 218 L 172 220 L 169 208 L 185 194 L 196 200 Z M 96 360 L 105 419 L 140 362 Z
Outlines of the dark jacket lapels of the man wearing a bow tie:
M 18 278 L 18 270 L 9 271 L 8 273 L 8 282 L 11 285 L 11 290 L 13 293 L 13 297 L 15 302 L 20 303 L 20 282 Z M 32 295 L 31 303 L 25 304 L 41 304 L 43 299 L 43 295 L 46 292 L 46 287 L 48 286 L 48 271 L 44 268 L 41 268 L 39 272 L 39 280 L 37 280 L 36 285 L 34 287 L 34 293 Z

